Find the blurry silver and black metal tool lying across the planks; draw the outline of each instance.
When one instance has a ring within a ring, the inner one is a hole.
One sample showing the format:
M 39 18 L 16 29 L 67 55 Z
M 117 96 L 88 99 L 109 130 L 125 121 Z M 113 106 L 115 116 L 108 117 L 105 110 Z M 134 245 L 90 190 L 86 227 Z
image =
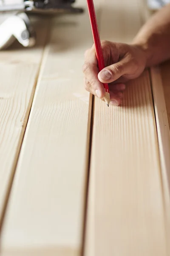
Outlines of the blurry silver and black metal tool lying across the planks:
M 56 15 L 58 13 L 81 13 L 82 8 L 74 8 L 75 0 L 23 0 L 21 4 L 3 4 L 0 12 L 17 12 L 0 25 L 0 50 L 11 45 L 15 38 L 24 47 L 35 44 L 35 32 L 28 14 Z

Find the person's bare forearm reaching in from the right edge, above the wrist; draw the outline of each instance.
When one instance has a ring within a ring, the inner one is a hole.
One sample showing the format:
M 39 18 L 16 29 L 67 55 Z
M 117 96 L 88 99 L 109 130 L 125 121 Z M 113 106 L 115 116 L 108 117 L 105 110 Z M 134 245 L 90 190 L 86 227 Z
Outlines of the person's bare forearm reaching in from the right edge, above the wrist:
M 153 15 L 133 40 L 146 53 L 146 67 L 170 58 L 170 5 Z

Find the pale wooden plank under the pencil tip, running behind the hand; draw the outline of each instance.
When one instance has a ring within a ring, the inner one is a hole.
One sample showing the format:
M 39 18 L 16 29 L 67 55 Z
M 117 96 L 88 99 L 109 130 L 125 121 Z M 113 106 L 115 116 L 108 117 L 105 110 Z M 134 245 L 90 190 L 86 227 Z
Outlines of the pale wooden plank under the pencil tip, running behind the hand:
M 130 41 L 141 26 L 137 1 L 106 0 L 105 6 L 102 38 Z M 128 82 L 121 107 L 95 99 L 90 174 L 85 255 L 168 256 L 148 71 Z

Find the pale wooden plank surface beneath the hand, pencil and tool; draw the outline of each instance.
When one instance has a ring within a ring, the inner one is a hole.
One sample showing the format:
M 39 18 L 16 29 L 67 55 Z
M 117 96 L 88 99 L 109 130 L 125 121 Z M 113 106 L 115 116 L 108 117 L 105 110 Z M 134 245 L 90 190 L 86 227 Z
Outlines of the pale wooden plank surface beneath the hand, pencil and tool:
M 101 39 L 144 23 L 140 0 L 94 3 Z M 84 89 L 77 5 L 0 52 L 0 256 L 170 256 L 170 61 L 108 108 Z

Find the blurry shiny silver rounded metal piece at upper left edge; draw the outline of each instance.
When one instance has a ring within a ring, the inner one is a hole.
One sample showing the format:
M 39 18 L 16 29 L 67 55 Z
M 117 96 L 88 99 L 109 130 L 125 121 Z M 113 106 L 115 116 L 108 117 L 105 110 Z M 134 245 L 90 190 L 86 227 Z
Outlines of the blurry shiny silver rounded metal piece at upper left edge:
M 26 13 L 12 15 L 0 25 L 0 49 L 10 46 L 15 39 L 24 47 L 35 44 L 35 32 Z

